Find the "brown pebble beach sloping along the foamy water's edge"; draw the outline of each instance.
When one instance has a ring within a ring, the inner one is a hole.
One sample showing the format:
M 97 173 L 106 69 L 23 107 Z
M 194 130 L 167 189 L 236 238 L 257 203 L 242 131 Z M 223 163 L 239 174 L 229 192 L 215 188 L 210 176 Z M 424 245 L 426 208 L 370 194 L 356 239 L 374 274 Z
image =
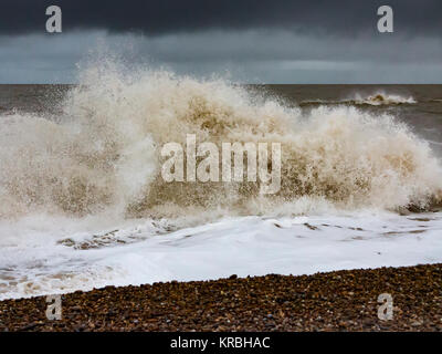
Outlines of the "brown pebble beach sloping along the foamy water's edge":
M 393 319 L 378 317 L 389 293 Z M 442 264 L 107 287 L 0 302 L 0 331 L 442 331 Z

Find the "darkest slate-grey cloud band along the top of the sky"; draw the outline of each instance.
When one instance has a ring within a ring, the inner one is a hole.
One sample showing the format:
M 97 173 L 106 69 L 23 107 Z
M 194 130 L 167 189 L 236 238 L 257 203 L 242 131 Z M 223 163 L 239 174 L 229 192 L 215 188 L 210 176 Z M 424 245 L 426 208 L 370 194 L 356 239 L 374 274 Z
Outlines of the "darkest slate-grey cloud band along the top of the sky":
M 63 11 L 63 32 L 105 29 L 156 35 L 212 29 L 284 29 L 351 37 L 376 31 L 378 7 L 394 10 L 394 32 L 436 35 L 440 0 L 2 0 L 0 33 L 44 32 L 45 8 Z

